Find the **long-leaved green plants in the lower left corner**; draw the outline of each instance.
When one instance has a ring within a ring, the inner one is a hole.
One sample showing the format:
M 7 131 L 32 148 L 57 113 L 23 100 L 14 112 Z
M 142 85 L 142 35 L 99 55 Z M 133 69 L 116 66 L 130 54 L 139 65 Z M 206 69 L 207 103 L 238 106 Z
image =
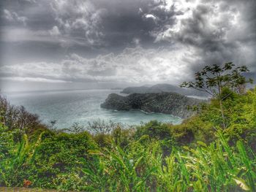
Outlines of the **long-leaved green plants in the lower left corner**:
M 43 133 L 42 133 L 43 134 Z M 42 134 L 32 145 L 26 134 L 23 134 L 21 142 L 15 144 L 13 140 L 13 132 L 0 134 L 2 149 L 9 150 L 1 151 L 0 158 L 0 184 L 6 186 L 22 186 L 23 180 L 30 177 L 29 164 L 34 161 L 35 152 L 41 142 Z

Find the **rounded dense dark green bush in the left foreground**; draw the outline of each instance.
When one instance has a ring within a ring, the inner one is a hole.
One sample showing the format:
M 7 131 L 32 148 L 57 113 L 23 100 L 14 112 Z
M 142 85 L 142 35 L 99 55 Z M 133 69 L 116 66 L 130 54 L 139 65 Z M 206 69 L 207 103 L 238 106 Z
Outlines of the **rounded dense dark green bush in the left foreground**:
M 97 145 L 87 132 L 79 134 L 60 133 L 42 140 L 34 158 L 34 185 L 52 188 L 52 180 L 59 174 L 81 174 L 81 169 L 93 164 Z

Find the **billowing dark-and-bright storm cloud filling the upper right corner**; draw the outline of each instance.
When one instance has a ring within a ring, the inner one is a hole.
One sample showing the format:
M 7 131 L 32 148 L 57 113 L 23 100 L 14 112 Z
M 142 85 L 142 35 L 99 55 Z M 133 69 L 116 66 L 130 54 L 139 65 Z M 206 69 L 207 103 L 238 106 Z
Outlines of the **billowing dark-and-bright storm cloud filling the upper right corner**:
M 196 71 L 206 64 L 233 61 L 255 72 L 256 1 L 171 1 L 175 24 L 153 31 L 157 41 L 187 45 L 198 58 Z M 159 6 L 157 6 L 159 7 Z M 160 6 L 168 9 L 167 4 Z M 179 13 L 179 14 L 178 14 Z M 189 63 L 189 61 L 188 61 Z

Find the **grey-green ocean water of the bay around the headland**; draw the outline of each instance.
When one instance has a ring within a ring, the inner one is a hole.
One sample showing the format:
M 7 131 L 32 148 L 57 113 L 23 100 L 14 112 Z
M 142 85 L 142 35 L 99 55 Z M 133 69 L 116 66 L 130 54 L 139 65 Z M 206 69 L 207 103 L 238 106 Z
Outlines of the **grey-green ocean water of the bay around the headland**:
M 34 91 L 3 93 L 14 105 L 23 105 L 29 112 L 39 115 L 43 123 L 56 120 L 56 128 L 69 128 L 73 123 L 87 126 L 89 121 L 112 120 L 116 123 L 139 125 L 150 120 L 173 124 L 181 118 L 162 113 L 146 113 L 140 110 L 116 111 L 100 108 L 110 93 L 120 90 Z

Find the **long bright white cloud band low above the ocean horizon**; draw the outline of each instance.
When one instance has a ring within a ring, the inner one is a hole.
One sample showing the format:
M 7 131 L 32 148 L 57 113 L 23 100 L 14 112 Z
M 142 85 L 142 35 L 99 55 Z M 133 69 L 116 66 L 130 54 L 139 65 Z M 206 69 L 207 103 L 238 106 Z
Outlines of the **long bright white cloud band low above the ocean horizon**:
M 126 48 L 120 54 L 83 58 L 72 54 L 59 64 L 37 62 L 1 66 L 0 74 L 8 78 L 60 80 L 72 82 L 172 82 L 179 83 L 189 74 L 187 60 L 194 59 L 192 50 Z

